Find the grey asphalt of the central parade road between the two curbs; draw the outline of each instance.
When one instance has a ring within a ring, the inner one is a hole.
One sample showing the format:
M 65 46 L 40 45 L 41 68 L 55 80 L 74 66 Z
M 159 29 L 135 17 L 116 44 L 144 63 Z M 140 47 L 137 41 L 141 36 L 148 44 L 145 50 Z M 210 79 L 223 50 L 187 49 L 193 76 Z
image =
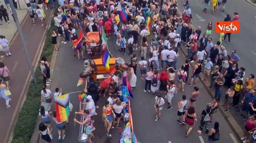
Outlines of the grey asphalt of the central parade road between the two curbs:
M 149 38 L 150 39 L 150 38 Z M 115 57 L 123 57 L 126 61 L 129 61 L 130 56 L 118 53 L 117 45 L 113 44 L 109 40 L 110 51 Z M 136 52 L 139 55 L 139 52 Z M 140 58 L 140 56 L 139 56 Z M 184 56 L 181 54 L 178 65 L 183 64 Z M 53 80 L 51 84 L 51 90 L 53 91 L 56 87 L 62 88 L 64 92 L 73 92 L 82 90 L 83 87 L 76 87 L 78 75 L 83 70 L 83 61 L 73 57 L 73 51 L 70 48 L 70 43 L 66 45 L 60 45 L 60 51 L 57 55 L 56 66 L 53 72 Z M 139 74 L 139 71 L 137 71 Z M 177 103 L 181 100 L 181 95 L 185 94 L 189 98 L 191 95 L 192 87 L 186 85 L 185 92 L 179 92 L 173 98 L 173 109 L 167 110 L 167 105 L 164 105 L 163 114 L 159 121 L 154 121 L 154 95 L 149 92 L 144 92 L 144 81 L 137 78 L 137 87 L 133 90 L 134 98 L 131 99 L 131 108 L 133 115 L 134 132 L 136 133 L 137 139 L 140 142 L 207 142 L 207 135 L 198 134 L 199 121 L 196 122 L 190 137 L 185 137 L 185 126 L 179 125 L 176 122 L 177 119 Z M 176 81 L 177 82 L 177 81 Z M 200 88 L 199 100 L 196 103 L 196 113 L 199 116 L 201 111 L 206 108 L 206 103 L 211 102 L 211 97 L 207 94 L 204 86 L 201 82 L 198 83 Z M 78 110 L 78 99 L 77 94 L 71 95 L 70 100 L 74 105 L 74 110 Z M 118 142 L 119 134 L 118 129 L 114 128 L 111 130 L 113 135 L 112 139 L 108 139 L 105 135 L 102 118 L 102 106 L 104 98 L 101 97 L 99 100 L 99 109 L 96 110 L 98 115 L 95 118 L 96 131 L 94 132 L 96 138 L 92 139 L 93 142 Z M 70 124 L 66 128 L 66 139 L 62 142 L 76 142 L 78 139 L 78 125 L 73 124 L 73 113 L 70 116 Z M 200 118 L 198 117 L 198 120 Z M 217 112 L 214 115 L 214 121 L 217 120 L 220 123 L 221 142 L 234 142 L 233 132 L 228 126 L 226 120 Z M 53 125 L 55 126 L 55 125 Z M 211 125 L 212 126 L 212 125 Z M 53 142 L 59 142 L 57 140 L 57 128 L 53 128 Z

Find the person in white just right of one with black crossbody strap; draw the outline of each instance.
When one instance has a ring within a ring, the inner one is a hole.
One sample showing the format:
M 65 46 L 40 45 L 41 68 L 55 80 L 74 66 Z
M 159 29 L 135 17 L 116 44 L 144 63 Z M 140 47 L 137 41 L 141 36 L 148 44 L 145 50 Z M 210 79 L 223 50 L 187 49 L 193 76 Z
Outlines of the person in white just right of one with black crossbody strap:
M 166 99 L 167 103 L 169 104 L 169 107 L 167 108 L 168 110 L 172 109 L 172 98 L 174 97 L 174 94 L 176 93 L 176 86 L 174 84 L 174 81 L 171 80 L 169 82 L 169 85 L 167 85 L 167 94 L 166 94 Z

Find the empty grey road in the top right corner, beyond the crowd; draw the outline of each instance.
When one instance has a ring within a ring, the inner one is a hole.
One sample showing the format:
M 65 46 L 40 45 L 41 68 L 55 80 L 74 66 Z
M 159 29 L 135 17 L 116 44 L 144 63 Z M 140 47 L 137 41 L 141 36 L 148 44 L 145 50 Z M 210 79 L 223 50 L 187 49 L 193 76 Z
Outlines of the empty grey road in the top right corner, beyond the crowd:
M 237 54 L 240 56 L 239 67 L 244 67 L 246 76 L 253 73 L 255 75 L 256 64 L 256 48 L 255 48 L 255 38 L 256 38 L 256 9 L 255 6 L 247 3 L 244 0 L 230 0 L 227 1 L 225 6 L 225 11 L 220 10 L 215 12 L 214 15 L 211 14 L 211 6 L 209 6 L 207 13 L 203 12 L 204 4 L 201 4 L 203 0 L 191 0 L 190 8 L 192 11 L 193 22 L 192 24 L 197 27 L 201 26 L 202 32 L 205 32 L 208 22 L 213 22 L 213 30 L 211 38 L 213 38 L 213 43 L 217 42 L 219 39 L 219 34 L 215 33 L 215 22 L 223 21 L 227 13 L 233 16 L 234 12 L 238 12 L 240 21 L 240 33 L 231 34 L 231 44 L 227 44 L 227 38 L 223 42 L 228 54 L 231 53 L 232 49 L 236 49 Z M 182 1 L 179 1 L 179 9 L 183 10 L 181 6 Z

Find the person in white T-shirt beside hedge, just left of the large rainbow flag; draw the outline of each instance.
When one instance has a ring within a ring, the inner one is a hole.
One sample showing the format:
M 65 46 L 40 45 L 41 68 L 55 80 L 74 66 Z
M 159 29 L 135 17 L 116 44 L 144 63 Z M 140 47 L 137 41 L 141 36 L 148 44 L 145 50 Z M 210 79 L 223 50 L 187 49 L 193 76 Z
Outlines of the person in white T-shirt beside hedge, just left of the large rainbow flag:
M 43 87 L 43 90 L 41 91 L 41 105 L 44 106 L 45 111 L 51 111 L 51 94 L 52 92 L 50 89 Z

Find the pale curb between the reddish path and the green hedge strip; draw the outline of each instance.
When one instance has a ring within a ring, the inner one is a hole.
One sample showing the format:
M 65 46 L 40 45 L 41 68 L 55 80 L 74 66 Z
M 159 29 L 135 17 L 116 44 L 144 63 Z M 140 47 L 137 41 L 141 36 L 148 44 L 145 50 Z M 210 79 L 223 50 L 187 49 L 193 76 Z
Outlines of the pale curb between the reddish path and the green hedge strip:
M 51 12 L 51 15 L 53 17 L 53 11 Z M 28 13 L 27 13 L 26 17 L 28 17 Z M 48 25 L 51 23 L 52 17 L 50 18 Z M 17 37 L 17 34 L 18 34 L 18 32 L 16 31 L 16 37 Z M 14 36 L 14 38 L 16 38 L 16 37 Z M 43 51 L 44 41 L 45 41 L 45 37 L 46 37 L 46 31 L 43 33 L 43 37 L 44 38 L 41 40 L 41 42 L 39 44 L 41 46 L 39 46 L 40 48 L 38 48 L 38 51 L 36 52 L 35 59 L 32 62 L 34 70 L 36 70 L 36 68 L 38 66 L 38 62 L 39 62 L 39 59 L 40 59 L 39 55 Z M 14 38 L 12 38 L 12 39 L 14 39 Z M 6 137 L 4 139 L 4 142 L 11 142 L 12 141 L 12 138 L 13 138 L 13 135 L 14 135 L 14 132 L 13 132 L 14 131 L 14 127 L 15 127 L 16 121 L 18 119 L 17 118 L 18 117 L 17 113 L 21 110 L 22 105 L 24 104 L 24 102 L 26 100 L 26 94 L 28 92 L 28 88 L 29 88 L 29 84 L 30 84 L 31 80 L 32 80 L 31 71 L 29 71 L 28 77 L 26 78 L 26 81 L 24 82 L 24 86 L 23 86 L 21 95 L 19 95 L 19 100 L 18 100 L 17 106 L 15 107 L 15 110 L 14 110 L 14 112 L 16 114 L 14 114 L 14 116 L 12 116 L 12 118 L 11 118 L 11 123 L 13 123 L 13 124 L 10 124 L 9 128 L 7 129 L 7 134 L 6 134 Z

